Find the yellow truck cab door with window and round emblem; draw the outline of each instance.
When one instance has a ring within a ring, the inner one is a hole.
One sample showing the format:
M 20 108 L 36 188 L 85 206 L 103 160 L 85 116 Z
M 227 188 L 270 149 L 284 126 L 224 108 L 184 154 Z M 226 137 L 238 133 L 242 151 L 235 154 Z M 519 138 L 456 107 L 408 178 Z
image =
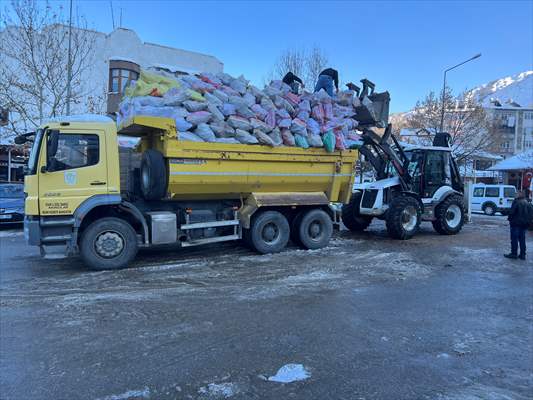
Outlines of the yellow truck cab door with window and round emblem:
M 41 215 L 72 215 L 86 199 L 107 194 L 104 131 L 48 130 L 39 171 Z

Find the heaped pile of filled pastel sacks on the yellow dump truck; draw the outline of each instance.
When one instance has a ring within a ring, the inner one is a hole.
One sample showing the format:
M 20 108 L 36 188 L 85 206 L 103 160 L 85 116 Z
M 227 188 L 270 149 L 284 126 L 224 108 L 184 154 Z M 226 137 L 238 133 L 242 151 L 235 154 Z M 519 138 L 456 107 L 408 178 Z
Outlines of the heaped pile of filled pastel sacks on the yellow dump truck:
M 291 93 L 282 81 L 263 90 L 243 76 L 226 73 L 178 75 L 142 71 L 125 90 L 117 123 L 133 116 L 176 121 L 179 140 L 268 146 L 324 147 L 327 151 L 356 146 L 360 101 L 353 91 L 330 97 Z

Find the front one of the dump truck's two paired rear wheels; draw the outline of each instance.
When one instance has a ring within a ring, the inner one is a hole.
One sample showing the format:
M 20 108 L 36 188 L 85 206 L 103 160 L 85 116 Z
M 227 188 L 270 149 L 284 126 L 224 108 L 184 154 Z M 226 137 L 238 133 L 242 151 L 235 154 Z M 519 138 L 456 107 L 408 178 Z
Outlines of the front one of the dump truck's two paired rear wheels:
M 252 219 L 250 244 L 259 253 L 277 253 L 289 241 L 290 228 L 285 216 L 277 211 L 264 211 Z

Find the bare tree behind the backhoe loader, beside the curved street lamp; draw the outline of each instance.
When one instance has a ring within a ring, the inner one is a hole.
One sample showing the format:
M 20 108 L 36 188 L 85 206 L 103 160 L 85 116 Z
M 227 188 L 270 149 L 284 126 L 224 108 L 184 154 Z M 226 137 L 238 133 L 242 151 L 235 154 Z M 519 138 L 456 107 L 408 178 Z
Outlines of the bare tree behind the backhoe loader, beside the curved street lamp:
M 465 161 L 494 146 L 495 137 L 490 129 L 489 118 L 481 104 L 467 92 L 454 96 L 449 88 L 444 92 L 443 130 L 452 138 L 452 148 L 459 161 Z M 427 139 L 440 131 L 442 96 L 430 92 L 418 101 L 407 117 L 407 127 L 424 130 Z

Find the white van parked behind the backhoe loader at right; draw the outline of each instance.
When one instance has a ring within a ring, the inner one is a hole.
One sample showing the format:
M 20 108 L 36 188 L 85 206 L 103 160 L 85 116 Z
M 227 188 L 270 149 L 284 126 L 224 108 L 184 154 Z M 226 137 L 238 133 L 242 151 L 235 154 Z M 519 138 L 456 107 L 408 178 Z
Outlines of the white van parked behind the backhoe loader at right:
M 487 215 L 496 212 L 505 214 L 511 208 L 516 196 L 516 188 L 511 185 L 476 184 L 472 191 L 472 211 L 482 211 Z

